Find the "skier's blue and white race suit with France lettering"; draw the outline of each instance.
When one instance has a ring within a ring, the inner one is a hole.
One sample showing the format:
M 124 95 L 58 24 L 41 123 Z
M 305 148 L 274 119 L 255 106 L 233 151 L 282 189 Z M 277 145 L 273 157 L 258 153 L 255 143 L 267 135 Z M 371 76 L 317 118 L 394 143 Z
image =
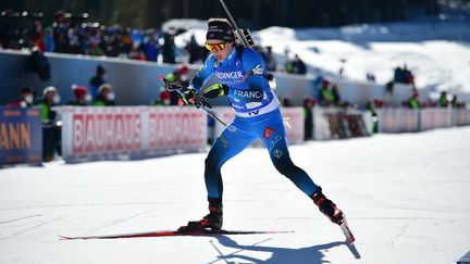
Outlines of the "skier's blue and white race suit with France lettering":
M 199 90 L 212 75 L 228 87 L 236 117 L 217 138 L 206 159 L 208 198 L 222 199 L 222 165 L 256 139 L 264 143 L 275 168 L 311 196 L 318 186 L 290 160 L 279 101 L 264 77 L 264 63 L 258 52 L 245 48 L 239 55 L 234 48 L 223 62 L 209 55 L 189 87 Z

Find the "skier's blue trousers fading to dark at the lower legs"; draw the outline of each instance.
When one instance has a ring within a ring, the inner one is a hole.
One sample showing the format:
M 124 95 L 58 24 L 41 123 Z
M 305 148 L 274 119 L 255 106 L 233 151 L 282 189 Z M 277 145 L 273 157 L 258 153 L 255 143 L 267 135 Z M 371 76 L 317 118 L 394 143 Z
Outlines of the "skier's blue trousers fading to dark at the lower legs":
M 208 198 L 222 199 L 222 165 L 257 138 L 264 143 L 275 168 L 307 196 L 313 194 L 318 186 L 304 169 L 292 162 L 281 111 L 275 110 L 255 117 L 237 116 L 217 138 L 206 159 Z

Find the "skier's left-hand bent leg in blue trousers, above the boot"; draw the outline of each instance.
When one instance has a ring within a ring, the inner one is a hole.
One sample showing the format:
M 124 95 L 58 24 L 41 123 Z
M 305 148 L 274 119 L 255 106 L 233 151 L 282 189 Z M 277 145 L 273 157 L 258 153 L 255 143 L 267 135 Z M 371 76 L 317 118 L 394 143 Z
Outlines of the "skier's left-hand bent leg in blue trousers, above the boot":
M 222 165 L 255 140 L 245 124 L 236 118 L 215 139 L 206 159 L 206 188 L 209 200 L 222 199 Z

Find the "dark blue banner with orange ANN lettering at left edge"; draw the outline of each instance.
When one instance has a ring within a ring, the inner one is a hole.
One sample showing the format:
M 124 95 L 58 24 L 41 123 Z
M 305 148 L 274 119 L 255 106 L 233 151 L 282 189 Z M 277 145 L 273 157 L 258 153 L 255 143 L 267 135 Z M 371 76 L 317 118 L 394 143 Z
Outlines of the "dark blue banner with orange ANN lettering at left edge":
M 42 163 L 39 109 L 0 108 L 0 166 Z

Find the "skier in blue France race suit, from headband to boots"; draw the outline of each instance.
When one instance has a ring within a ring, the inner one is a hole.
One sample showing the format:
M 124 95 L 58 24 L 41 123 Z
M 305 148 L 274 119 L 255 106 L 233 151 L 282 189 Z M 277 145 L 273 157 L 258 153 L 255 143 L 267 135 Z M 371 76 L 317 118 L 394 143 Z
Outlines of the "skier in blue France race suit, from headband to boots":
M 280 103 L 271 90 L 260 54 L 235 42 L 234 30 L 225 18 L 208 21 L 206 48 L 211 51 L 203 66 L 189 83 L 183 103 L 209 106 L 206 98 L 227 96 L 235 109 L 235 120 L 215 139 L 206 159 L 205 180 L 209 214 L 186 228 L 222 228 L 221 167 L 253 140 L 261 139 L 275 168 L 310 197 L 333 223 L 343 223 L 343 212 L 322 193 L 309 175 L 289 156 Z M 202 88 L 215 75 L 219 84 Z M 184 227 L 182 227 L 184 228 Z

